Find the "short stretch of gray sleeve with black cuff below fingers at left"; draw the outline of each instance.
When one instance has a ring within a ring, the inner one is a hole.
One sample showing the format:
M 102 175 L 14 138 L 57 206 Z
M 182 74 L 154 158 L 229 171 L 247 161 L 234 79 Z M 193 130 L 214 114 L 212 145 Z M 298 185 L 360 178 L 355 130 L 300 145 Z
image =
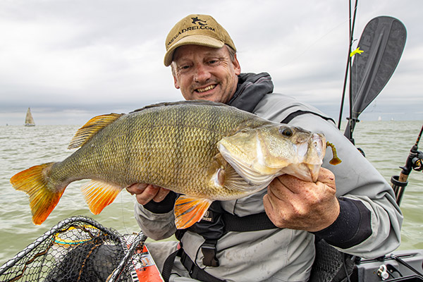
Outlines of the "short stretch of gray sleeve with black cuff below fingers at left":
M 175 198 L 175 194 L 170 192 L 161 204 L 149 202 L 143 206 L 135 203 L 135 219 L 142 232 L 149 238 L 162 240 L 171 237 L 176 232 L 173 215 Z

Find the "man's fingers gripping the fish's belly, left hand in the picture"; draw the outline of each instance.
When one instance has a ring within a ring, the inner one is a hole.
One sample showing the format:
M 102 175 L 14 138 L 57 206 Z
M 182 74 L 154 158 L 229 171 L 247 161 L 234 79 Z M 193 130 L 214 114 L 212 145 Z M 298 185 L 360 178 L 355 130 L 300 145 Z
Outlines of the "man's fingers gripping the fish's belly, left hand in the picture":
M 131 195 L 135 194 L 137 202 L 147 204 L 149 201 L 161 202 L 164 200 L 170 190 L 156 185 L 135 183 L 126 188 Z

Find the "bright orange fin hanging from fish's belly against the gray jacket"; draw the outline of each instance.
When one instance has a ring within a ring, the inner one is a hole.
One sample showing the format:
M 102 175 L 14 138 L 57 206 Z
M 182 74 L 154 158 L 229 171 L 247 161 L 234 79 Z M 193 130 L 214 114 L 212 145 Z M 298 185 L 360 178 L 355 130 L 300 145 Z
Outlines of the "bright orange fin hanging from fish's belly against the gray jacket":
M 175 224 L 178 229 L 185 229 L 200 221 L 212 200 L 182 195 L 175 203 Z

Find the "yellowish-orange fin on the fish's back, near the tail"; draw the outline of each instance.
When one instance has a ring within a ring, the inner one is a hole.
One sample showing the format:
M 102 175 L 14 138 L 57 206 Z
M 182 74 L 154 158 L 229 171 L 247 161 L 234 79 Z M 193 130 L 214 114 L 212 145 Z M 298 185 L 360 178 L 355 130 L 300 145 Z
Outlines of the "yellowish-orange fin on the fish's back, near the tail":
M 100 130 L 116 121 L 124 114 L 106 114 L 102 116 L 94 116 L 90 121 L 85 123 L 82 128 L 78 129 L 69 144 L 68 149 L 75 149 L 84 145 L 92 136 L 96 135 Z

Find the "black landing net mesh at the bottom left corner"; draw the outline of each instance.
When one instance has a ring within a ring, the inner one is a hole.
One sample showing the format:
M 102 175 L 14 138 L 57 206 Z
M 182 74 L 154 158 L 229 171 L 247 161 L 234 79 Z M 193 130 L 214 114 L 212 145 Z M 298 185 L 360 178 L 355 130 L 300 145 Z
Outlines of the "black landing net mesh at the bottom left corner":
M 120 235 L 93 219 L 59 222 L 0 267 L 0 281 L 133 281 L 135 250 L 142 233 Z

